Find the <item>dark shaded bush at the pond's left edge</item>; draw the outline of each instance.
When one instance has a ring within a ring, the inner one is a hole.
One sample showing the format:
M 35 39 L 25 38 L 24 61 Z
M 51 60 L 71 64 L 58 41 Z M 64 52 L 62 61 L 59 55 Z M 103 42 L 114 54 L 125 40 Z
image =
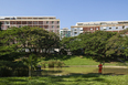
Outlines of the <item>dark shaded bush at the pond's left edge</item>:
M 2 63 L 2 64 L 1 64 Z M 0 76 L 28 76 L 28 66 L 22 62 L 0 61 Z

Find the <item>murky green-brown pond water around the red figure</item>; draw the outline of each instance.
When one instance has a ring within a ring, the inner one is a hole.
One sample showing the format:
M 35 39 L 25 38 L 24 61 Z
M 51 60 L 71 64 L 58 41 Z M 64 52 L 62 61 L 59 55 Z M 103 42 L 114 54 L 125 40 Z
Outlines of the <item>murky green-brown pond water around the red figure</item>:
M 70 75 L 70 74 L 88 74 L 98 73 L 98 67 L 62 67 L 62 68 L 43 68 L 40 75 Z M 104 67 L 103 74 L 127 75 L 128 68 Z M 36 75 L 36 74 L 34 74 Z

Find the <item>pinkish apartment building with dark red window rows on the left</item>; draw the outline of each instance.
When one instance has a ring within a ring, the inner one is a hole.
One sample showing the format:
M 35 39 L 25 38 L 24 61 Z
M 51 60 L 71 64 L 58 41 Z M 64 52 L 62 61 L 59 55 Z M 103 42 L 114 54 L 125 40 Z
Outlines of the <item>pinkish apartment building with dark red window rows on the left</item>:
M 2 30 L 7 30 L 11 26 L 21 28 L 28 25 L 60 33 L 60 19 L 55 17 L 0 17 L 0 22 L 2 22 Z

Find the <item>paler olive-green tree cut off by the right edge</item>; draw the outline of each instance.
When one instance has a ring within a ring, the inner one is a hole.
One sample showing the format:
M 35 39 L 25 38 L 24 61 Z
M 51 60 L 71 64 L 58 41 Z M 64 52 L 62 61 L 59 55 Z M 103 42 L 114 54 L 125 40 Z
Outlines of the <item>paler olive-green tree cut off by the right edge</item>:
M 111 36 L 106 44 L 106 55 L 113 56 L 113 55 L 124 55 L 127 54 L 127 35 L 128 29 L 121 31 L 120 33 L 117 33 L 116 35 Z M 126 53 L 125 53 L 126 52 Z

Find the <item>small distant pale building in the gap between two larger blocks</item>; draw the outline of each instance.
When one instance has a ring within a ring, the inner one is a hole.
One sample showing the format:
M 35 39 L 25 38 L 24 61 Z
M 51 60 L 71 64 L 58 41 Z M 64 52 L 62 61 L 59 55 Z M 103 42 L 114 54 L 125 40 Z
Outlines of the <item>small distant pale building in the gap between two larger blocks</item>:
M 60 39 L 70 38 L 70 36 L 71 36 L 71 30 L 68 30 L 68 28 L 63 28 L 62 30 L 60 30 Z

